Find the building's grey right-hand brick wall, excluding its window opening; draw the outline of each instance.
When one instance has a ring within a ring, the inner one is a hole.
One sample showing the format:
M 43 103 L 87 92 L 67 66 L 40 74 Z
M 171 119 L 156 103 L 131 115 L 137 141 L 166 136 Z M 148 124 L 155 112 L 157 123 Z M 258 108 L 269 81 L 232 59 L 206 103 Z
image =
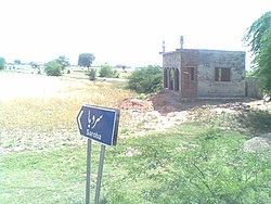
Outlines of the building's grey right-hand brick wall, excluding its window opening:
M 216 68 L 230 68 L 229 81 L 216 81 Z M 245 97 L 245 52 L 198 51 L 198 97 Z

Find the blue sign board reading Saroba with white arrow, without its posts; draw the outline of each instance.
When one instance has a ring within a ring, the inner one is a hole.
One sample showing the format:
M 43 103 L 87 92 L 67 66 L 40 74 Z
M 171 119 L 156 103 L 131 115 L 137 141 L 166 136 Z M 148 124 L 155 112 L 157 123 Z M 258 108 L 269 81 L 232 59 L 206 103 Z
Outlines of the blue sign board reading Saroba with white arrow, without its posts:
M 104 145 L 116 145 L 119 110 L 82 105 L 77 123 L 81 136 Z

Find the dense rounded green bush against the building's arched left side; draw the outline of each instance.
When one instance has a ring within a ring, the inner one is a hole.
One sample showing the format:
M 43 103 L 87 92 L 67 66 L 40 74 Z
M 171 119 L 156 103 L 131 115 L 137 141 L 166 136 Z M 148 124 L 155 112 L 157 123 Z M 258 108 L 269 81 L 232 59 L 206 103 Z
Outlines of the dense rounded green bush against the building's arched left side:
M 163 69 L 160 66 L 149 65 L 131 73 L 127 88 L 138 93 L 155 93 L 163 88 Z

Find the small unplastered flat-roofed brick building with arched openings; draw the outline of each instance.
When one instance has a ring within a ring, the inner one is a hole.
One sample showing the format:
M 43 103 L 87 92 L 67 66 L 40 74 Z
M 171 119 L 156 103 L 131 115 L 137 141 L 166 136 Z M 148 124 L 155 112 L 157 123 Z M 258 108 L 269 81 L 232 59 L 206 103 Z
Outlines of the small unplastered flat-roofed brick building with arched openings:
M 245 52 L 177 49 L 162 52 L 164 88 L 181 98 L 245 97 Z

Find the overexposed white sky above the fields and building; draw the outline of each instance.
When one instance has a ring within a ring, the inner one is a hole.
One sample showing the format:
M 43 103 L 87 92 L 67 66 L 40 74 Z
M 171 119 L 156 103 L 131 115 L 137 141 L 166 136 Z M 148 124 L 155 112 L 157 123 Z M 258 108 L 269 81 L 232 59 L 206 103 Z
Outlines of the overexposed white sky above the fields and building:
M 0 10 L 7 62 L 93 53 L 93 65 L 134 67 L 162 65 L 163 40 L 173 51 L 180 36 L 186 49 L 248 51 L 242 38 L 271 0 L 0 0 Z

